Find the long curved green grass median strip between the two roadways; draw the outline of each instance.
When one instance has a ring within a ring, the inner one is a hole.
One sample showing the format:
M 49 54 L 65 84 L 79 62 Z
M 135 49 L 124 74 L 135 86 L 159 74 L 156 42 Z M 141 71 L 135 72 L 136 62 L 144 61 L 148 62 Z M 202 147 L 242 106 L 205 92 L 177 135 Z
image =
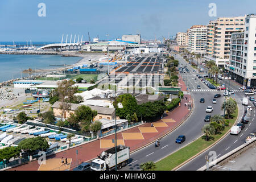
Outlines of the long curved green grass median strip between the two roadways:
M 174 154 L 171 154 L 166 158 L 160 160 L 159 162 L 155 163 L 155 171 L 170 171 L 171 169 L 179 166 L 179 164 L 185 162 L 200 151 L 209 147 L 211 144 L 213 144 L 216 140 L 220 139 L 226 132 L 230 130 L 234 122 L 236 122 L 237 115 L 238 109 L 236 109 L 236 112 L 232 114 L 233 119 L 226 119 L 226 121 L 229 121 L 229 126 L 225 127 L 225 130 L 222 131 L 220 134 L 212 135 L 212 140 L 205 141 L 203 137 L 200 137 L 194 142 L 188 144 L 188 146 L 181 148 L 180 150 L 174 152 Z

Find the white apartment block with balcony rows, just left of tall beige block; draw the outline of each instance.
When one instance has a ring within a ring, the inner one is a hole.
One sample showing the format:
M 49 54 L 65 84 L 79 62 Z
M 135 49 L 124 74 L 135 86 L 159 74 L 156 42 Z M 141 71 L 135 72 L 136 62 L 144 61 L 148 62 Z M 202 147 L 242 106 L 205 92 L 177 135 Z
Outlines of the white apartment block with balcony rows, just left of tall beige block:
M 188 30 L 188 51 L 204 55 L 207 46 L 207 26 L 195 25 Z

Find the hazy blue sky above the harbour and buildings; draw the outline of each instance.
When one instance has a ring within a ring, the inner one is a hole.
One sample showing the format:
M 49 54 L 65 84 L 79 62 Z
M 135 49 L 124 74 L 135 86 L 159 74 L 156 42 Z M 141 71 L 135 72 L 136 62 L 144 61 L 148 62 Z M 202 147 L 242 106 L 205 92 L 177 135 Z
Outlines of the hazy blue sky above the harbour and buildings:
M 209 16 L 210 3 L 217 16 Z M 88 32 L 91 39 L 140 33 L 162 40 L 218 17 L 256 14 L 255 7 L 255 0 L 6 0 L 0 1 L 0 42 L 59 42 L 63 34 L 68 42 L 71 34 L 72 41 L 75 34 L 88 41 Z

